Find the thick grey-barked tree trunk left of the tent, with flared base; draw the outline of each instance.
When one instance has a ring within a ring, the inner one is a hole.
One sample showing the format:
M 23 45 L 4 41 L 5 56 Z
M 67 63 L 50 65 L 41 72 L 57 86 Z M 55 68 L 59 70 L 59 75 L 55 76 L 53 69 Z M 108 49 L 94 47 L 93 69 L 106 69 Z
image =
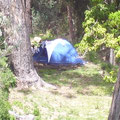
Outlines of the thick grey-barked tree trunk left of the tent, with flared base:
M 10 26 L 6 32 L 11 35 L 8 40 L 12 46 L 11 61 L 20 88 L 49 86 L 37 74 L 32 60 L 29 37 L 26 0 L 0 0 L 4 14 L 9 17 Z M 27 2 L 31 2 L 27 0 Z

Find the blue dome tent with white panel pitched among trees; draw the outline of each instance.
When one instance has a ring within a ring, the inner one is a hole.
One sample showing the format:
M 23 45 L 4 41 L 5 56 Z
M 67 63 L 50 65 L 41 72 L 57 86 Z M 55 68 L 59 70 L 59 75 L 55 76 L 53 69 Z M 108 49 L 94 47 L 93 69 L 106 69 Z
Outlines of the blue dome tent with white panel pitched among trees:
M 65 39 L 55 39 L 42 42 L 33 55 L 33 60 L 39 63 L 54 65 L 85 64 L 75 48 Z

